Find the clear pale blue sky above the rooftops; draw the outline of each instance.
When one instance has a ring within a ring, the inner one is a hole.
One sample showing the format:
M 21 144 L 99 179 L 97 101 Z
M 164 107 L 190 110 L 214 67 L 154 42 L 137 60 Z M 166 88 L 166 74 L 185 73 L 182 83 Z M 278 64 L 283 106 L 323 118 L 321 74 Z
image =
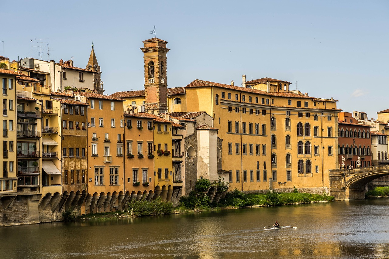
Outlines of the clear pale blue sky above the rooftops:
M 0 17 L 0 55 L 11 60 L 40 58 L 42 42 L 43 60 L 84 68 L 93 42 L 105 94 L 144 89 L 139 48 L 156 26 L 171 49 L 168 87 L 270 77 L 345 112 L 377 119 L 389 108 L 387 0 L 19 0 L 1 1 Z

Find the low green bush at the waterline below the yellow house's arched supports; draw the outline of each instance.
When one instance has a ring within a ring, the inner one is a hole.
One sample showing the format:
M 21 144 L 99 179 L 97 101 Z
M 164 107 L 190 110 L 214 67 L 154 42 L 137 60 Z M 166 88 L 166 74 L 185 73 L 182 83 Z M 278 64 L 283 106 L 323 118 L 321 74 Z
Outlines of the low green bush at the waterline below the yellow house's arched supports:
M 172 213 L 173 204 L 158 197 L 151 201 L 131 201 L 128 210 L 135 216 L 163 215 Z

